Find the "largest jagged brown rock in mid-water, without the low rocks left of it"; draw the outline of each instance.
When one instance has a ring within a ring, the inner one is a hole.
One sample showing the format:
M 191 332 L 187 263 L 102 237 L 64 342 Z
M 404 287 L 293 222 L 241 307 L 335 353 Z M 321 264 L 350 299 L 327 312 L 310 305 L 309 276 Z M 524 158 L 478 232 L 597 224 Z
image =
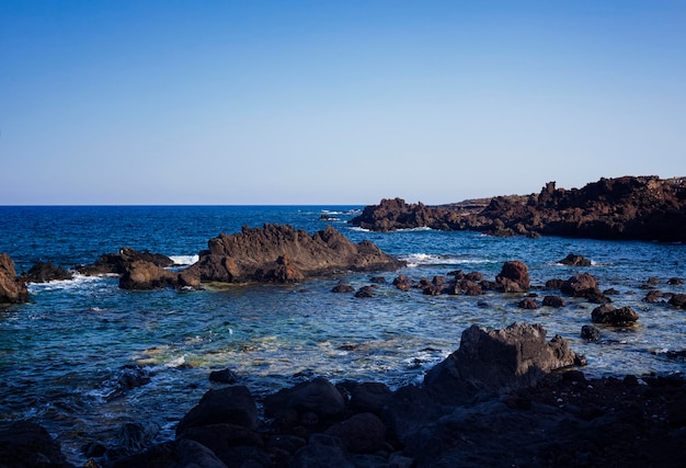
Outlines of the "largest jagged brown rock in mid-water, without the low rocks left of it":
M 293 226 L 243 227 L 208 241 L 209 251 L 191 271 L 204 282 L 295 283 L 341 271 L 384 271 L 404 265 L 369 241 L 351 242 L 331 226 L 313 235 Z

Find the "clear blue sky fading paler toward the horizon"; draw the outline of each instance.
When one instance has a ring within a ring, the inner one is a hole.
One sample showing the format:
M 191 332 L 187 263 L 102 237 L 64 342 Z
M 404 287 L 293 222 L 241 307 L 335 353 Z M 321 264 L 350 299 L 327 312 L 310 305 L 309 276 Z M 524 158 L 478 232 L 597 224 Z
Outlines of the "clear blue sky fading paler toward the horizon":
M 686 1 L 0 2 L 0 205 L 686 175 Z

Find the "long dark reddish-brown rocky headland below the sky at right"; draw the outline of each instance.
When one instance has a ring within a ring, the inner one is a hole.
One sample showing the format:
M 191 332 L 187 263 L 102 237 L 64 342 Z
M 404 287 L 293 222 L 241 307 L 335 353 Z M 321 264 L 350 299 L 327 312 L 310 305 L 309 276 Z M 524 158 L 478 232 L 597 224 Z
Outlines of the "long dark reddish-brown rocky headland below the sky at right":
M 375 231 L 418 227 L 493 236 L 686 240 L 686 178 L 601 179 L 582 189 L 549 182 L 538 194 L 427 206 L 401 198 L 365 207 L 351 222 Z

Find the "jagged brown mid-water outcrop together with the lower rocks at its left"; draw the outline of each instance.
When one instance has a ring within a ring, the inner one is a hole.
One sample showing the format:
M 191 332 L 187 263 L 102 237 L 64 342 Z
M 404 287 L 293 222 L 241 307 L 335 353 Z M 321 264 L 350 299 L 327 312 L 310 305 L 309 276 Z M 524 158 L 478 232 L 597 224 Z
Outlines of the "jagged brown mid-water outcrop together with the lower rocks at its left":
M 313 235 L 293 226 L 265 224 L 243 227 L 235 235 L 221 233 L 208 241 L 208 250 L 187 269 L 169 270 L 171 259 L 133 249 L 106 254 L 88 274 L 119 273 L 124 289 L 201 288 L 205 282 L 298 283 L 307 277 L 335 273 L 392 271 L 405 265 L 369 241 L 351 242 L 331 226 Z

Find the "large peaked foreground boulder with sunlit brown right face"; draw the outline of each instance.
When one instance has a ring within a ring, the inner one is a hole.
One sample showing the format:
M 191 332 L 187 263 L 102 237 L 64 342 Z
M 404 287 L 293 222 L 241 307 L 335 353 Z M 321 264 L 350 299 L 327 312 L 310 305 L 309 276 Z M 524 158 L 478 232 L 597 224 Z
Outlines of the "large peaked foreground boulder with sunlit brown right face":
M 424 385 L 438 400 L 460 403 L 480 391 L 528 387 L 551 370 L 583 363 L 562 336 L 546 341 L 540 324 L 515 322 L 492 331 L 475 324 L 462 332 L 460 347 L 426 374 Z

